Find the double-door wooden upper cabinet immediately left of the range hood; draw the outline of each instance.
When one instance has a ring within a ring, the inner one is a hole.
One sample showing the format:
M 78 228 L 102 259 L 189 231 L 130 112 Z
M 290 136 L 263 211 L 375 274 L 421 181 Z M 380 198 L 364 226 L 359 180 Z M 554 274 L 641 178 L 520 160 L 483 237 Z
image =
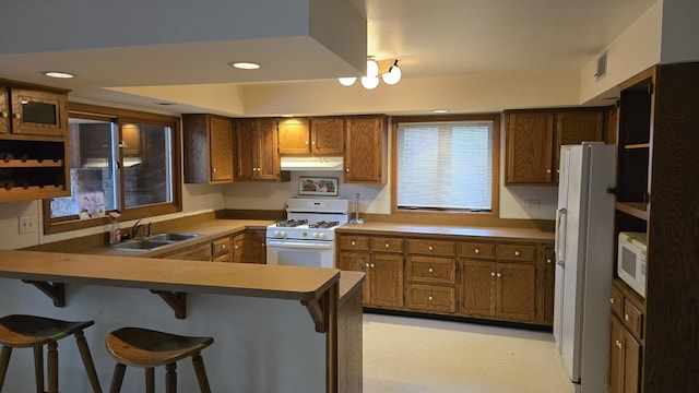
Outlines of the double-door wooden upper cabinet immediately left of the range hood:
M 236 180 L 289 181 L 280 169 L 276 120 L 238 119 L 236 133 Z

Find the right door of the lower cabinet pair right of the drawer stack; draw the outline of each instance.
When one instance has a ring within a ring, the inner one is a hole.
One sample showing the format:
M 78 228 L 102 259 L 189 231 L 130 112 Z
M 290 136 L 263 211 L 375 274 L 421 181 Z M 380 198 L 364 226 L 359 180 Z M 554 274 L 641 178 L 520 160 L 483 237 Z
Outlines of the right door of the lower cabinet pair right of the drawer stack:
M 523 263 L 498 263 L 496 309 L 500 318 L 533 321 L 536 311 L 536 269 Z

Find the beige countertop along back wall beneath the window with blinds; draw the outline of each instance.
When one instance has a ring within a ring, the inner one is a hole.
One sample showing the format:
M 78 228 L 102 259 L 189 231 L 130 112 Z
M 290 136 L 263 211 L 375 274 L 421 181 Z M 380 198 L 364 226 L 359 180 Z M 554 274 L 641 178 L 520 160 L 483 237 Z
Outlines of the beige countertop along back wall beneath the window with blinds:
M 389 234 L 395 236 L 404 235 L 439 235 L 454 237 L 488 237 L 505 240 L 526 240 L 526 241 L 554 241 L 555 233 L 538 228 L 517 228 L 517 227 L 460 227 L 453 225 L 423 225 L 402 223 L 378 223 L 368 222 L 365 224 L 347 224 L 337 228 L 340 234 Z

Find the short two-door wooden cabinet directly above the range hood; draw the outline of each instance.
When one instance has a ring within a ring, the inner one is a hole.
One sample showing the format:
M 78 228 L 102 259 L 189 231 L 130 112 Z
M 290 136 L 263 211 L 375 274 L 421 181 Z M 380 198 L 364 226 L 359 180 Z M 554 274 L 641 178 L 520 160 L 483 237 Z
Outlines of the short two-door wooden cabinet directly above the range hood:
M 344 154 L 344 118 L 286 119 L 279 131 L 282 155 Z

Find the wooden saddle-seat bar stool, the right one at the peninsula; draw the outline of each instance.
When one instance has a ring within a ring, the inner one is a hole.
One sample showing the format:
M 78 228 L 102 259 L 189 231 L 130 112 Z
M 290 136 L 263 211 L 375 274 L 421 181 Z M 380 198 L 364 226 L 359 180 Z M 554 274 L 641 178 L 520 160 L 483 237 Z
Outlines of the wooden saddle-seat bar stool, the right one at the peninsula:
M 167 393 L 177 392 L 176 361 L 191 356 L 202 393 L 211 393 L 204 361 L 200 352 L 214 342 L 213 337 L 189 337 L 140 327 L 121 327 L 107 335 L 109 354 L 117 360 L 109 392 L 121 390 L 128 366 L 145 369 L 145 391 L 155 391 L 154 368 L 165 366 Z

